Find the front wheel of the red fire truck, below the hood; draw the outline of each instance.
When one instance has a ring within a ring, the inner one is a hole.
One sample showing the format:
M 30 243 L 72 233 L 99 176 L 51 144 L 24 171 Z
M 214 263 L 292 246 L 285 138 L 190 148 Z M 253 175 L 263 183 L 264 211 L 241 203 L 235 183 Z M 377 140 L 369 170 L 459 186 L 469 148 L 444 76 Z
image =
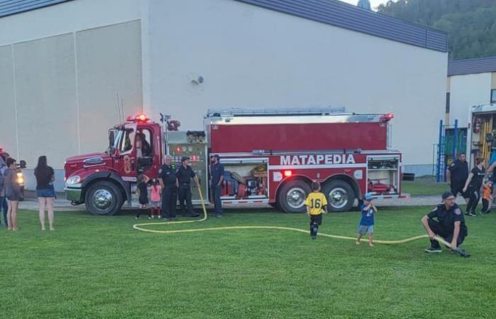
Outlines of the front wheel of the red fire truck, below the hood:
M 89 186 L 84 198 L 93 215 L 115 215 L 123 203 L 123 194 L 111 181 L 96 181 Z

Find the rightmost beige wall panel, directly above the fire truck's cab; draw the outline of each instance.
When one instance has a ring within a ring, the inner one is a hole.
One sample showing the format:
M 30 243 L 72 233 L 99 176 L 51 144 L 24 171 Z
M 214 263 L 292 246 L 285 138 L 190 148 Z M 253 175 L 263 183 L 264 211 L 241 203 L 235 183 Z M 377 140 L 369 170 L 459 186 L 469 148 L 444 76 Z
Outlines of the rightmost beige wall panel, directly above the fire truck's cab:
M 106 149 L 108 128 L 123 117 L 117 96 L 124 115 L 142 112 L 140 33 L 140 21 L 76 33 L 79 152 Z

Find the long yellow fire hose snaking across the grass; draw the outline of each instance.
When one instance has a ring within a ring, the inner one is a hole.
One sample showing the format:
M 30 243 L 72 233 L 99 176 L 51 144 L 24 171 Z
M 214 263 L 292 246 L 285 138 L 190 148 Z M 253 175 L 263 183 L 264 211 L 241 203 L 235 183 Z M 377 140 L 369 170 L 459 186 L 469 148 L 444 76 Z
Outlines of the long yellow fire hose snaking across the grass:
M 142 228 L 142 226 L 148 226 L 148 225 L 174 225 L 174 224 L 178 225 L 178 224 L 186 224 L 186 223 L 197 223 L 207 220 L 207 209 L 205 208 L 205 203 L 203 203 L 203 194 L 201 193 L 200 187 L 198 187 L 198 191 L 200 194 L 201 206 L 203 208 L 203 218 L 198 220 L 181 220 L 181 221 L 171 221 L 171 222 L 161 222 L 161 223 L 142 223 L 142 224 L 133 225 L 133 228 L 135 230 L 141 230 L 142 232 L 159 233 L 159 234 L 194 233 L 194 232 L 205 232 L 210 230 L 243 230 L 243 229 L 292 230 L 293 232 L 299 232 L 305 234 L 310 233 L 309 230 L 303 230 L 303 229 L 291 228 L 291 227 L 282 227 L 282 226 L 225 226 L 225 227 L 211 227 L 211 228 L 191 228 L 191 229 L 182 229 L 182 230 L 151 230 L 147 228 Z M 329 235 L 324 233 L 318 233 L 317 235 L 320 237 L 329 237 L 329 238 L 336 238 L 342 240 L 356 240 L 356 237 Z M 428 237 L 429 237 L 428 235 L 419 235 L 415 237 L 405 238 L 403 240 L 373 240 L 373 242 L 376 244 L 383 244 L 383 245 L 398 245 Z M 451 246 L 451 244 L 449 242 L 446 242 L 446 240 L 444 240 L 442 237 L 436 235 L 434 239 L 437 240 L 441 245 L 446 245 L 447 247 Z

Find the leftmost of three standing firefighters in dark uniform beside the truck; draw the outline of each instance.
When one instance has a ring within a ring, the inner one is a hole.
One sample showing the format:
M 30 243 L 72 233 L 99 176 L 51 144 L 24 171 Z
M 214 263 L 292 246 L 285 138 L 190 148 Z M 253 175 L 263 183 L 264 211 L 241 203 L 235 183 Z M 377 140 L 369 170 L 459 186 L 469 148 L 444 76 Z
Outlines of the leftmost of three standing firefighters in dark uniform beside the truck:
M 162 218 L 164 220 L 174 219 L 177 205 L 177 178 L 170 155 L 165 157 L 165 164 L 159 168 L 158 178 L 162 186 Z

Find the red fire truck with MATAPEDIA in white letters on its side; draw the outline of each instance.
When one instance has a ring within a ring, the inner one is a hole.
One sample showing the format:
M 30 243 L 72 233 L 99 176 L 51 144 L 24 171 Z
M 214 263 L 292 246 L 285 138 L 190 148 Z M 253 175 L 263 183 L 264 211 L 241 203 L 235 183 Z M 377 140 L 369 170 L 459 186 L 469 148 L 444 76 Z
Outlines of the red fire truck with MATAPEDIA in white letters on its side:
M 155 123 L 139 115 L 109 130 L 106 152 L 67 159 L 67 198 L 85 203 L 91 213 L 113 215 L 125 200 L 130 203 L 137 175 L 157 177 L 165 155 L 176 164 L 190 157 L 209 198 L 209 158 L 220 155 L 223 203 L 269 203 L 303 212 L 311 182 L 320 181 L 329 210 L 349 211 L 366 192 L 376 198 L 401 195 L 401 153 L 389 146 L 392 118 L 331 107 L 230 108 L 209 110 L 204 130 L 184 132 L 170 116 Z M 147 147 L 137 147 L 137 140 Z M 200 203 L 196 186 L 192 191 L 193 203 Z

